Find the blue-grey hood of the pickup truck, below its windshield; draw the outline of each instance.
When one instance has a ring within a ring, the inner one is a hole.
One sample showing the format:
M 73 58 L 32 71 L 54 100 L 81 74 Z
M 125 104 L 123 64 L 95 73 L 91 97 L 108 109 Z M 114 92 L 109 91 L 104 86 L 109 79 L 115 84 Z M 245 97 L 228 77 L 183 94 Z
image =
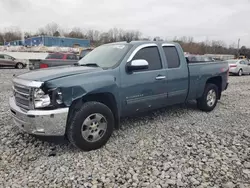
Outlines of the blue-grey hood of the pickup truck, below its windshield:
M 60 66 L 45 69 L 33 70 L 17 76 L 24 80 L 32 81 L 49 81 L 65 76 L 72 76 L 76 74 L 90 73 L 96 71 L 103 71 L 99 67 L 86 67 L 86 66 Z

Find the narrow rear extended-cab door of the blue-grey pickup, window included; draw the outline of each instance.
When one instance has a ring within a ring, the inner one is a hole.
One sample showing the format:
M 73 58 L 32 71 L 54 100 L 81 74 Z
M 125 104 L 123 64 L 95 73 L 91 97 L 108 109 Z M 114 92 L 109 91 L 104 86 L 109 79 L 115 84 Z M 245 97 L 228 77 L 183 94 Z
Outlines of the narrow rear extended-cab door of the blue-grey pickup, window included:
M 189 72 L 184 53 L 180 46 L 172 44 L 162 44 L 162 48 L 167 63 L 167 104 L 183 103 L 189 89 Z

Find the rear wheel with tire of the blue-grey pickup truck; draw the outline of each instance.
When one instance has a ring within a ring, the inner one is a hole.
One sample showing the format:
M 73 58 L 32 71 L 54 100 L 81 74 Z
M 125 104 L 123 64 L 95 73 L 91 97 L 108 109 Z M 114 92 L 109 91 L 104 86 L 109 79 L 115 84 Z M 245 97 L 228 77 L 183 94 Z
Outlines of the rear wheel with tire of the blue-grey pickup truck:
M 211 92 L 213 94 L 211 94 Z M 209 95 L 211 96 L 210 98 L 211 100 L 208 99 Z M 205 112 L 212 111 L 217 105 L 218 96 L 219 96 L 218 87 L 215 84 L 206 84 L 202 97 L 197 99 L 197 107 Z

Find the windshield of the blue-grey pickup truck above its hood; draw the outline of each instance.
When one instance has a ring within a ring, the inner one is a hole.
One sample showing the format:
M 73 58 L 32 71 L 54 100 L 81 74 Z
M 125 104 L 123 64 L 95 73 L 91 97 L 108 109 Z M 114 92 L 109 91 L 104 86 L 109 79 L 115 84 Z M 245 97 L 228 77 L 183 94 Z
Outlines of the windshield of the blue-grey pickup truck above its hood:
M 111 68 L 120 63 L 131 47 L 131 44 L 106 44 L 99 46 L 89 52 L 87 56 L 84 56 L 79 61 L 79 65 L 97 64 L 102 68 Z

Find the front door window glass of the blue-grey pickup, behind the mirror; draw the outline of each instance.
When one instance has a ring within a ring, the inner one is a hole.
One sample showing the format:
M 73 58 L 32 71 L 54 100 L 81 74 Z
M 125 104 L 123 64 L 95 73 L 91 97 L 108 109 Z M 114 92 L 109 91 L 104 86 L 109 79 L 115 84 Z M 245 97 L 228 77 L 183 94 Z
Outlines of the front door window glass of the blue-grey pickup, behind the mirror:
M 158 70 L 162 68 L 160 53 L 157 46 L 142 48 L 133 57 L 133 60 L 136 59 L 146 60 L 149 64 L 147 70 Z

